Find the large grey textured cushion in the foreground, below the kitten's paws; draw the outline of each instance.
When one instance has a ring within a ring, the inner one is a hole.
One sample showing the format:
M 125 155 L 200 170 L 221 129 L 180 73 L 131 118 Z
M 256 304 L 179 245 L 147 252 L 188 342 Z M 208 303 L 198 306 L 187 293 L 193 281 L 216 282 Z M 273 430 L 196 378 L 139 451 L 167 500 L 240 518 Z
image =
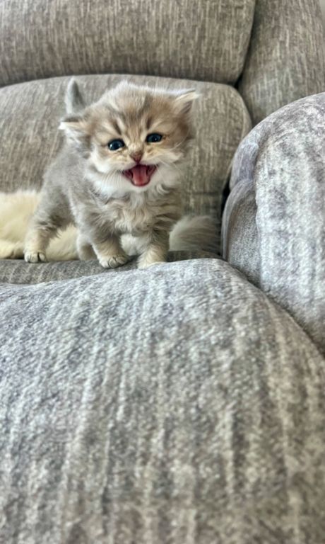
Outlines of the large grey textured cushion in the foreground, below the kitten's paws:
M 323 544 L 324 359 L 218 259 L 0 290 L 6 544 Z

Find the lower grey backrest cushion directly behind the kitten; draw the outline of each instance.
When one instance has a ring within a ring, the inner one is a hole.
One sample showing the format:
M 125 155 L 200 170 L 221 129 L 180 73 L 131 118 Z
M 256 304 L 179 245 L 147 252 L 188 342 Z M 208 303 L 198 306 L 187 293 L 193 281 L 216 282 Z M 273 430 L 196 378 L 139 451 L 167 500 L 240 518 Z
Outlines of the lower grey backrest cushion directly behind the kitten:
M 86 76 L 79 77 L 78 81 L 90 103 L 122 77 Z M 198 137 L 184 174 L 184 202 L 187 210 L 218 217 L 221 191 L 232 157 L 251 126 L 240 94 L 231 86 L 219 84 L 129 79 L 173 88 L 195 87 L 201 93 L 194 104 Z M 64 115 L 68 81 L 69 78 L 54 78 L 0 89 L 0 188 L 3 191 L 41 186 L 45 167 L 61 143 L 62 135 L 57 128 Z

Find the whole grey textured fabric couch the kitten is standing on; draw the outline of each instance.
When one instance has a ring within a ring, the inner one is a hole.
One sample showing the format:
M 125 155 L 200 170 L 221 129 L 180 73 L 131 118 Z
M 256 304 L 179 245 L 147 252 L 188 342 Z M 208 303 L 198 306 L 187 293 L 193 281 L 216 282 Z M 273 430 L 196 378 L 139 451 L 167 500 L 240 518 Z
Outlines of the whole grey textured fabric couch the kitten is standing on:
M 71 74 L 190 85 L 185 206 L 222 222 L 146 271 L 0 261 L 0 543 L 324 544 L 318 0 L 4 0 L 0 33 L 1 191 Z

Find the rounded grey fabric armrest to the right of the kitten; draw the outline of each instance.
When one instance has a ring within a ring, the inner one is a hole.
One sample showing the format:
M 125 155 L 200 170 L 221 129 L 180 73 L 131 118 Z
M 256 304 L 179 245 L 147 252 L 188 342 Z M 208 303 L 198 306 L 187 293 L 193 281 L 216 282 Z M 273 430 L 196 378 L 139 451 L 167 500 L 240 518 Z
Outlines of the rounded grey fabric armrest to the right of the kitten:
M 325 93 L 254 128 L 235 156 L 223 217 L 225 259 L 285 307 L 323 352 L 324 120 Z

